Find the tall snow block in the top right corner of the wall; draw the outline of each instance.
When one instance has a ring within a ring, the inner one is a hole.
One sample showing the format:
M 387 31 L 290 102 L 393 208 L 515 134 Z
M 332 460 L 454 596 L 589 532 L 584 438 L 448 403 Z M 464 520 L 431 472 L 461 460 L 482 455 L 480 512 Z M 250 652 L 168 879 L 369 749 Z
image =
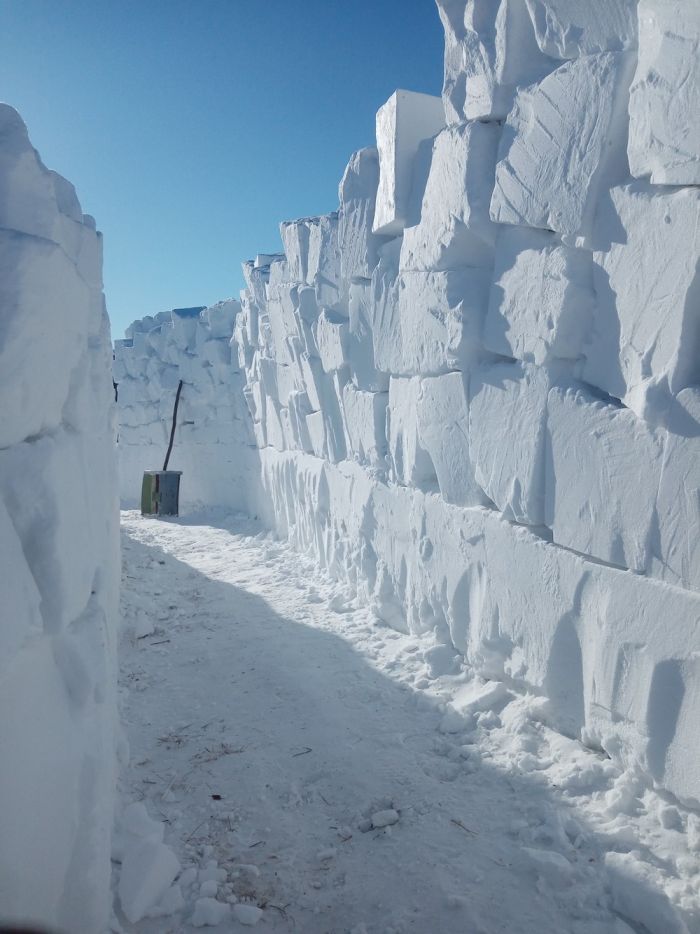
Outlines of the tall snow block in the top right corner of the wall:
M 657 185 L 700 184 L 700 10 L 683 0 L 640 0 L 639 55 L 630 88 L 632 175 Z

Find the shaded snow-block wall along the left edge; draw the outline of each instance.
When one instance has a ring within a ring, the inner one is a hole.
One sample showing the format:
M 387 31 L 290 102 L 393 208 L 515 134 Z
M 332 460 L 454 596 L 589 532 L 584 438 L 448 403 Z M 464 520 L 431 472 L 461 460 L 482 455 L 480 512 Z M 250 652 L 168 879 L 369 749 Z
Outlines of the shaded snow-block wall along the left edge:
M 119 583 L 102 238 L 0 105 L 0 921 L 109 920 Z

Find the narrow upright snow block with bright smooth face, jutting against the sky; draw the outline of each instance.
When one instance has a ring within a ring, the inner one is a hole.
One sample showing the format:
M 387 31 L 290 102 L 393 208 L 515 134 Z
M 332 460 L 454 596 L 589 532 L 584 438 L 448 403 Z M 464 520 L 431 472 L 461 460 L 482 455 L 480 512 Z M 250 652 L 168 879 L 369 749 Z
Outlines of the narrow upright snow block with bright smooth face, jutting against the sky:
M 445 125 L 439 97 L 394 91 L 377 111 L 379 189 L 372 230 L 395 237 L 409 222 L 413 167 L 420 144 Z

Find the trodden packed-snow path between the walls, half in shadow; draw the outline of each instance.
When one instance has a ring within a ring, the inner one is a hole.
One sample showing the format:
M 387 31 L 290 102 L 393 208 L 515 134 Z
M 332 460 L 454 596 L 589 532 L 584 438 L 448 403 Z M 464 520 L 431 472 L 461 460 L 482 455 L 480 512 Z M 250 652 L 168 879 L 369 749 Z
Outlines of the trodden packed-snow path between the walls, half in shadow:
M 542 698 L 379 623 L 249 520 L 126 512 L 123 533 L 115 929 L 700 929 L 697 816 L 551 731 Z

